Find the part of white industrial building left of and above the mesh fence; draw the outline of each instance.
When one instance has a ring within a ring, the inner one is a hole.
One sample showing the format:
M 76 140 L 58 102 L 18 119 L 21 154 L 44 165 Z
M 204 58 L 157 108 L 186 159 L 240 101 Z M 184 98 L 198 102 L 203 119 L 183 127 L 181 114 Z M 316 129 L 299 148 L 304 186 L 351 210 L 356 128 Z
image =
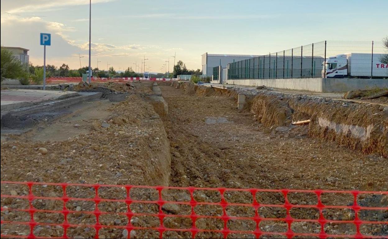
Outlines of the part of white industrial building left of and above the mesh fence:
M 261 55 L 224 55 L 224 54 L 202 54 L 202 74 L 205 76 L 213 75 L 213 67 L 221 65 L 221 69 L 225 69 L 229 63 L 239 60 L 245 60 L 253 57 L 261 57 Z

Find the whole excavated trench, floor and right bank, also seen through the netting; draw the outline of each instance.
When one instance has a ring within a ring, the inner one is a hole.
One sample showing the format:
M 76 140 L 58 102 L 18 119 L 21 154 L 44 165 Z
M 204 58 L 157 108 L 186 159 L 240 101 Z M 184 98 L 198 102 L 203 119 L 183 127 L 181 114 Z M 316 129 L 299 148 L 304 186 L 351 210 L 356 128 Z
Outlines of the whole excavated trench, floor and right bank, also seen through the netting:
M 168 114 L 162 119 L 170 141 L 170 186 L 229 187 L 271 189 L 359 189 L 387 190 L 388 178 L 382 168 L 386 162 L 386 110 L 378 106 L 364 109 L 360 105 L 341 105 L 305 97 L 272 93 L 248 95 L 244 109 L 238 111 L 236 91 L 174 83 L 162 85 L 168 103 Z M 222 97 L 218 97 L 222 96 Z M 318 102 L 319 101 L 319 102 Z M 291 126 L 291 122 L 310 119 L 309 125 Z M 385 134 L 385 135 L 384 135 Z M 368 155 L 369 153 L 369 155 Z M 372 153 L 372 154 L 371 154 Z M 185 190 L 166 193 L 166 198 L 189 200 Z M 225 192 L 228 203 L 251 203 L 243 193 Z M 195 191 L 199 202 L 219 201 L 214 191 Z M 282 202 L 280 194 L 256 195 L 259 202 Z M 307 194 L 290 195 L 296 204 L 312 205 L 316 197 Z M 333 195 L 326 203 L 351 205 L 352 198 Z M 358 198 L 368 206 L 388 206 L 388 198 L 371 195 Z M 227 214 L 253 217 L 248 207 L 228 206 Z M 194 208 L 197 215 L 221 216 L 220 206 Z M 168 214 L 188 215 L 191 209 L 183 205 L 166 205 Z M 324 210 L 326 218 L 353 220 L 352 210 Z M 261 208 L 262 217 L 282 218 L 282 208 Z M 292 210 L 294 218 L 318 219 L 316 210 Z M 363 220 L 372 217 L 388 220 L 385 211 L 366 210 Z M 164 225 L 190 229 L 189 218 L 170 218 Z M 254 230 L 251 220 L 231 220 L 232 230 Z M 223 228 L 222 220 L 203 218 L 196 221 L 198 229 Z M 310 222 L 293 223 L 296 232 L 317 233 L 320 227 Z M 284 232 L 285 222 L 262 222 L 264 232 Z M 350 224 L 327 224 L 331 234 L 353 234 Z M 363 227 L 362 233 L 387 235 L 384 225 Z M 142 234 L 144 236 L 144 234 Z M 158 236 L 158 234 L 154 234 Z M 228 238 L 251 238 L 251 234 L 230 234 Z M 168 238 L 189 238 L 189 232 L 168 232 Z M 198 238 L 222 238 L 221 233 L 200 232 Z M 267 235 L 266 237 L 272 238 Z M 276 237 L 278 238 L 278 237 Z

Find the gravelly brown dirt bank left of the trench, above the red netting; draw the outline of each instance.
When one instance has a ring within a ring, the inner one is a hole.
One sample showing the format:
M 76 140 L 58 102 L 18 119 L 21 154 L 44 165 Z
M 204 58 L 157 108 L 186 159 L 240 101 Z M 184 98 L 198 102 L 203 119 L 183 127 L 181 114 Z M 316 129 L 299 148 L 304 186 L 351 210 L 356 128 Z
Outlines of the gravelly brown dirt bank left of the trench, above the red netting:
M 152 106 L 130 95 L 108 110 L 110 120 L 65 141 L 2 142 L 1 179 L 168 185 L 169 142 Z

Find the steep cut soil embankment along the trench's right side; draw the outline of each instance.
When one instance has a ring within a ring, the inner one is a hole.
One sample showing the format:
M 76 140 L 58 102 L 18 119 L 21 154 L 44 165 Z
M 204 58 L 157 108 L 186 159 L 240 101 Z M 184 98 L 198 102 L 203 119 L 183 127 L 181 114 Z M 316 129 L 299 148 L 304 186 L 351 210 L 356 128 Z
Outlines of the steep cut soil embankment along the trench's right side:
M 180 84 L 188 95 L 193 86 Z M 195 86 L 198 96 L 227 96 L 237 100 L 238 91 Z M 271 91 L 242 92 L 248 96 L 246 109 L 268 127 L 288 127 L 291 134 L 304 131 L 311 138 L 345 145 L 363 153 L 388 157 L 388 108 L 384 105 L 343 102 L 322 98 L 286 95 Z M 291 122 L 310 119 L 308 126 L 291 126 Z

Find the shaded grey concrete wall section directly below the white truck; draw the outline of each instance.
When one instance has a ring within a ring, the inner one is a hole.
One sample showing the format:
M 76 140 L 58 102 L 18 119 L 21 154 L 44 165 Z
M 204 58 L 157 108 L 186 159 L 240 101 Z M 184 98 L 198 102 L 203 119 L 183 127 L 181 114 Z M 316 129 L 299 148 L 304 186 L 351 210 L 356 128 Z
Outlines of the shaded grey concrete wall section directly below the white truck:
M 324 92 L 350 91 L 355 89 L 388 88 L 388 79 L 359 79 L 359 78 L 323 78 Z

